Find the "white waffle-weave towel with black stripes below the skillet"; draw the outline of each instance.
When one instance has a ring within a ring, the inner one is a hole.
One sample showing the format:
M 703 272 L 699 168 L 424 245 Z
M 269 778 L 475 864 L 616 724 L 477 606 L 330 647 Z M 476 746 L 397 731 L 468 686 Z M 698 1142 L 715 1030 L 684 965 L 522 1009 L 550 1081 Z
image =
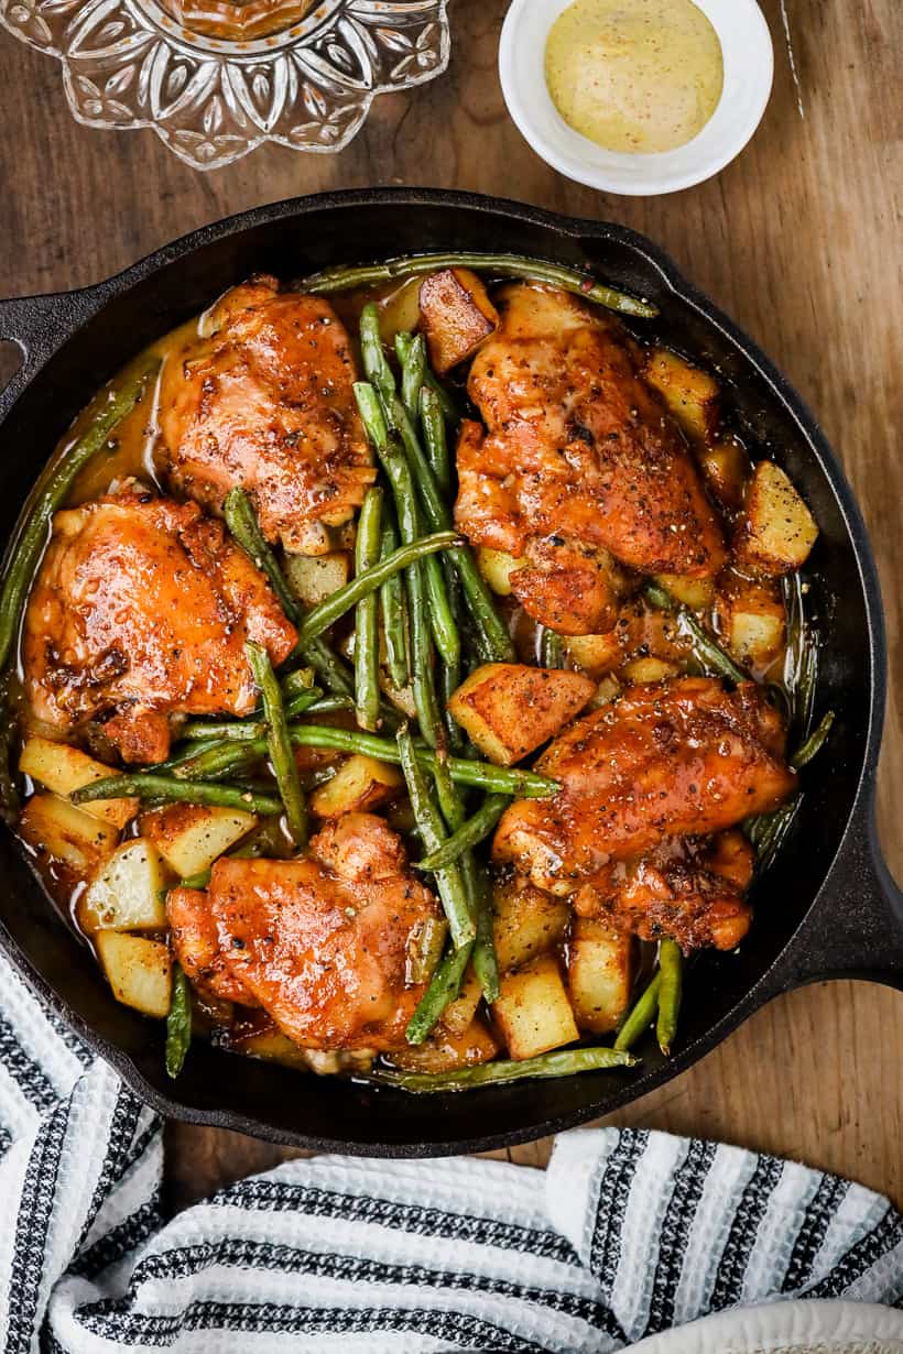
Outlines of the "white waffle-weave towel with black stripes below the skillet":
M 738 1304 L 903 1303 L 887 1200 L 627 1129 L 546 1174 L 296 1160 L 167 1219 L 160 1122 L 1 959 L 0 1152 L 4 1354 L 604 1354 Z

